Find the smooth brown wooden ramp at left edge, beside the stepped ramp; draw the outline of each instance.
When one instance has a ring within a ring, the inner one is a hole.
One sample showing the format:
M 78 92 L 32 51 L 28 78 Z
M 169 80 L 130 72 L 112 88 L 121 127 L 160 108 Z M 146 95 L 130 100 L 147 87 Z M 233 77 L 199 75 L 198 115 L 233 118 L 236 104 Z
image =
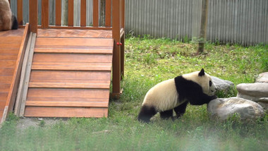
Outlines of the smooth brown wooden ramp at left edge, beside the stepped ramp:
M 0 123 L 13 109 L 27 33 L 28 26 L 0 32 Z

